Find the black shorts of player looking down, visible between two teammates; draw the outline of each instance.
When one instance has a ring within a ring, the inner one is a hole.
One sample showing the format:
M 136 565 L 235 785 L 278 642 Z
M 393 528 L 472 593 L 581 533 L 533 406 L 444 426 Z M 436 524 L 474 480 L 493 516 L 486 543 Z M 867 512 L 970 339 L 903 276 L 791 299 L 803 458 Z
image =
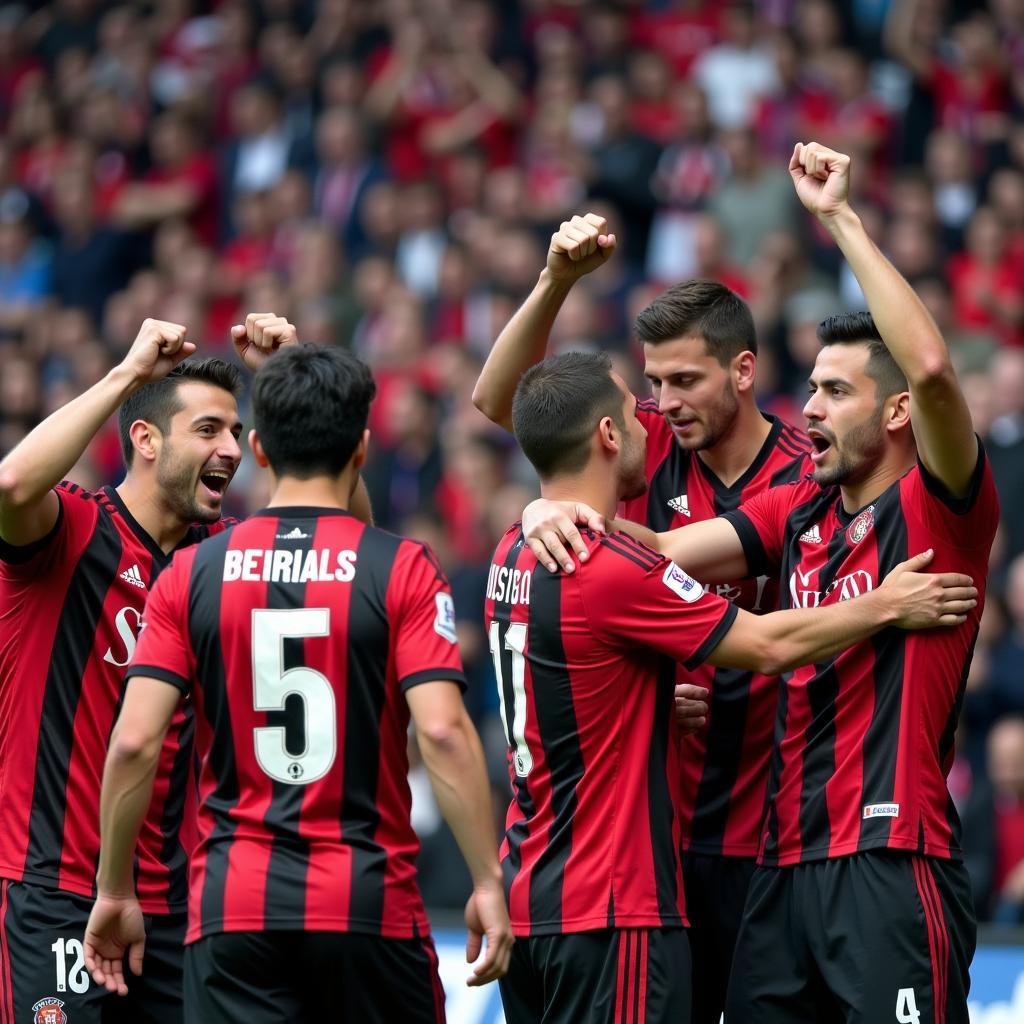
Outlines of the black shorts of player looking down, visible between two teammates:
M 684 853 L 682 861 L 693 957 L 692 1024 L 719 1024 L 755 861 L 703 853 Z

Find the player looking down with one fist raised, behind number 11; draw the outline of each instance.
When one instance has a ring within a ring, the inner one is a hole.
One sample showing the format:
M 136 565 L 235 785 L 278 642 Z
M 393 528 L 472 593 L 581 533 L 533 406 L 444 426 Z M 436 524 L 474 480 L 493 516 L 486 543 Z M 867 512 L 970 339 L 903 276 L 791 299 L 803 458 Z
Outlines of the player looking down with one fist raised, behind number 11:
M 568 291 L 613 253 L 607 227 L 595 214 L 561 225 L 537 287 L 495 342 L 473 399 L 506 428 L 516 383 L 544 357 Z M 648 489 L 624 502 L 627 519 L 654 530 L 700 522 L 811 471 L 807 435 L 755 401 L 757 336 L 738 295 L 712 281 L 674 285 L 639 314 L 635 332 L 653 398 L 637 410 Z M 716 592 L 748 611 L 778 607 L 774 575 L 722 581 Z M 778 679 L 705 665 L 681 667 L 679 681 L 710 701 L 707 728 L 681 739 L 679 817 L 693 1021 L 718 1024 L 761 835 Z

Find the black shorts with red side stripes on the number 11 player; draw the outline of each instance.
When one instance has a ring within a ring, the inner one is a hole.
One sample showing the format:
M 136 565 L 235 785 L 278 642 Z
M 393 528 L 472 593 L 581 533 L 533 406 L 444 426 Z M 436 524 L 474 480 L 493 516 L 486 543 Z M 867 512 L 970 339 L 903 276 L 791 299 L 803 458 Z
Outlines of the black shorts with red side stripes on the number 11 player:
M 516 939 L 499 982 L 507 1024 L 688 1024 L 683 928 L 622 928 Z

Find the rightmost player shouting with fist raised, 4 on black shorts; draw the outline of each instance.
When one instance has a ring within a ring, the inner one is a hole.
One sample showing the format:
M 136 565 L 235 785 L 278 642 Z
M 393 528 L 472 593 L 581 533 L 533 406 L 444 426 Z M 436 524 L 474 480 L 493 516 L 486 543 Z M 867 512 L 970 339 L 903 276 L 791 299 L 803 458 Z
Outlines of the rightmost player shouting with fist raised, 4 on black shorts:
M 886 630 L 786 677 L 726 1016 L 967 1024 L 976 929 L 945 777 L 995 488 L 934 321 L 850 207 L 849 158 L 799 143 L 790 171 L 870 309 L 819 328 L 804 409 L 813 478 L 652 540 L 698 574 L 737 559 L 780 571 L 783 605 L 804 608 L 871 590 L 929 545 L 979 601 L 955 629 Z

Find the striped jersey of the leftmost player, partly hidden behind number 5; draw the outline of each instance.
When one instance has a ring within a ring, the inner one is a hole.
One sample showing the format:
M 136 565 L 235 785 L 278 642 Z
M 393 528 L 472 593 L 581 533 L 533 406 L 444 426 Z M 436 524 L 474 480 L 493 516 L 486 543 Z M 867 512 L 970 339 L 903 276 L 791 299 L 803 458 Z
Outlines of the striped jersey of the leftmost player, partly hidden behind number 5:
M 56 488 L 50 534 L 0 542 L 0 877 L 95 892 L 99 788 L 124 667 L 148 589 L 171 555 L 113 487 Z M 223 528 L 194 526 L 180 547 Z M 193 722 L 182 709 L 161 754 L 139 836 L 136 886 L 150 913 L 187 904 L 189 841 L 179 831 Z

